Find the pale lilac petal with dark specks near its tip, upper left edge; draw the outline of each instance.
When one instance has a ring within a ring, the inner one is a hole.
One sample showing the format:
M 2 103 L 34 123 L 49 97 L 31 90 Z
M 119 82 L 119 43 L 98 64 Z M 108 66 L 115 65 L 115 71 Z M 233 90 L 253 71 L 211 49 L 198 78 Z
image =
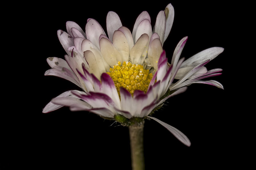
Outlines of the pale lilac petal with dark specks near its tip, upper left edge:
M 68 51 L 68 47 L 74 46 L 74 38 L 71 37 L 67 32 L 58 30 L 57 31 L 58 38 L 60 40 L 60 44 L 66 51 L 68 55 L 71 55 L 71 53 Z

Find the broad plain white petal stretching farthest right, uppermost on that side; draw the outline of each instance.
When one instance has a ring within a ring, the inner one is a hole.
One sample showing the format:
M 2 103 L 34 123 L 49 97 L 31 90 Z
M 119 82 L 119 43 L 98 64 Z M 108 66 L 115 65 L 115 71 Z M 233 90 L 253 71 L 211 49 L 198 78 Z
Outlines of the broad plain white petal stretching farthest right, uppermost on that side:
M 208 48 L 204 51 L 201 51 L 200 53 L 197 53 L 196 55 L 193 55 L 192 57 L 185 60 L 181 67 L 189 67 L 189 66 L 196 66 L 197 64 L 205 61 L 205 60 L 212 60 L 215 57 L 217 57 L 220 53 L 224 51 L 224 48 L 221 47 L 212 47 Z

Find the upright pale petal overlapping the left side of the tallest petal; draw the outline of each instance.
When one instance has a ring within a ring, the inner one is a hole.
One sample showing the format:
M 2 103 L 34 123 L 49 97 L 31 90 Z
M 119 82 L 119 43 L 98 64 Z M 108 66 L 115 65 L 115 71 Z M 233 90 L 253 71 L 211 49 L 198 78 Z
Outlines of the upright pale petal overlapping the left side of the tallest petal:
M 156 25 L 154 27 L 154 32 L 156 32 L 159 35 L 162 44 L 164 44 L 165 25 L 165 13 L 164 11 L 160 11 L 156 17 Z

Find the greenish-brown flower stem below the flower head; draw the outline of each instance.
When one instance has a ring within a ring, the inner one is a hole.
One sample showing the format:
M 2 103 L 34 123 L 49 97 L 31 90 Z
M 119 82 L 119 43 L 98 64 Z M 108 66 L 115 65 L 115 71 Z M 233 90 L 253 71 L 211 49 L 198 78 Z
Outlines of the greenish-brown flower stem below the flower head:
M 145 170 L 144 149 L 143 149 L 143 120 L 129 126 L 130 144 L 131 144 L 131 157 L 132 157 L 132 170 Z

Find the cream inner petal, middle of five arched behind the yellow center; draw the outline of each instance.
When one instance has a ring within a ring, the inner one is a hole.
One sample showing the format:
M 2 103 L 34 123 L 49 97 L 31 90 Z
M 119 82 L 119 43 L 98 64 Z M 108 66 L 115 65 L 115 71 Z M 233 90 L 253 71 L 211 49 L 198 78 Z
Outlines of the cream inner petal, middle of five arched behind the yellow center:
M 113 34 L 113 45 L 116 47 L 116 50 L 122 56 L 122 62 L 129 60 L 129 44 L 128 41 L 121 31 L 115 31 Z

